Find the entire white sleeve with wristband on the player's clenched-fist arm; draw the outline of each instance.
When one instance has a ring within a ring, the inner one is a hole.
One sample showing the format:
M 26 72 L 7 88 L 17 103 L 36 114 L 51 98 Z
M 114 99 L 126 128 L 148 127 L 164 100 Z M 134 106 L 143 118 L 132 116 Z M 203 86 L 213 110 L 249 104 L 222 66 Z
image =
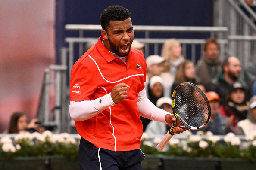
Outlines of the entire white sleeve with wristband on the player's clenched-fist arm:
M 103 110 L 114 106 L 111 93 L 95 100 L 84 100 L 81 102 L 70 101 L 69 114 L 74 121 L 84 121 L 94 117 Z

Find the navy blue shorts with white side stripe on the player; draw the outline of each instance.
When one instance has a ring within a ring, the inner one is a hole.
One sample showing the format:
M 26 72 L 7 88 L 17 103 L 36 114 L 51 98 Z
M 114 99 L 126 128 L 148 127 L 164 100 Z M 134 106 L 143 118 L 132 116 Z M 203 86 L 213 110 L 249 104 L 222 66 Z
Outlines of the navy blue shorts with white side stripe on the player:
M 81 138 L 78 152 L 80 170 L 142 170 L 145 155 L 140 149 L 114 152 L 96 148 Z

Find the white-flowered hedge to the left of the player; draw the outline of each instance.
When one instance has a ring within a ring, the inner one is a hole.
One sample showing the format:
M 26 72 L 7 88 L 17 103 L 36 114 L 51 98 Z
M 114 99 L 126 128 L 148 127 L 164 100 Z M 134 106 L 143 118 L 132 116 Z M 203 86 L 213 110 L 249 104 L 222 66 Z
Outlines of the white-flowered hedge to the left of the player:
M 0 157 L 66 155 L 78 156 L 78 143 L 69 134 L 53 134 L 51 131 L 9 135 L 0 139 Z

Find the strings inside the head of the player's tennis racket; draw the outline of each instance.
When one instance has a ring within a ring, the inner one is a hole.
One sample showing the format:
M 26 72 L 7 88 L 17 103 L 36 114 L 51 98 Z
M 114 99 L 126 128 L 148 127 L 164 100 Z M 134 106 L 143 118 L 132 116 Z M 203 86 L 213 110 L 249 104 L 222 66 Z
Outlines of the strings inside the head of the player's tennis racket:
M 183 124 L 200 127 L 205 124 L 209 110 L 202 94 L 190 85 L 182 85 L 175 95 L 175 111 Z

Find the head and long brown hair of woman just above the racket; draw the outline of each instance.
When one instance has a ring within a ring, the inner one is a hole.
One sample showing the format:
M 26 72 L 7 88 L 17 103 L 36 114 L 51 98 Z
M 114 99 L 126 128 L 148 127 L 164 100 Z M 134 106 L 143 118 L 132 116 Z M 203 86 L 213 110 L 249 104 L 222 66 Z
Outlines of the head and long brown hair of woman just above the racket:
M 172 91 L 175 90 L 175 88 L 183 83 L 183 82 L 191 82 L 191 83 L 196 83 L 196 70 L 194 67 L 194 63 L 190 60 L 184 60 L 177 69 L 176 73 L 176 79 L 175 82 L 172 85 Z

